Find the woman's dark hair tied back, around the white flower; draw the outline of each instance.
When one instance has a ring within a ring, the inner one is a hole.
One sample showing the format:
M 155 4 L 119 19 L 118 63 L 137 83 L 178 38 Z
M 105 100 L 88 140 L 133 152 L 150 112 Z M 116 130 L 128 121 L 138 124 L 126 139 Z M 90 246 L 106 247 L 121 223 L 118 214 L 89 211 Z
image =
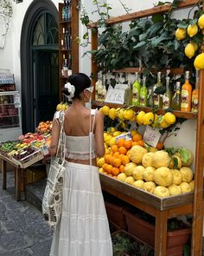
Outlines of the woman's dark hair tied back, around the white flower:
M 80 93 L 91 86 L 91 79 L 84 73 L 75 73 L 68 76 L 67 82 L 75 87 L 73 99 L 80 99 Z M 62 93 L 67 96 L 70 95 L 67 88 L 63 88 Z

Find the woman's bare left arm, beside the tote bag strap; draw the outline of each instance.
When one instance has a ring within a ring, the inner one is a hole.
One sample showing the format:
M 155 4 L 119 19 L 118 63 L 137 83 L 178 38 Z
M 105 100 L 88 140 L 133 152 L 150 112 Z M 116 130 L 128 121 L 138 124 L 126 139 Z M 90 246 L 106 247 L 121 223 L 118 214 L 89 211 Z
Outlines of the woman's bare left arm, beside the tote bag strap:
M 52 139 L 50 146 L 48 148 L 49 154 L 54 156 L 57 153 L 57 147 L 60 137 L 60 123 L 58 120 L 53 120 L 53 128 L 52 128 Z

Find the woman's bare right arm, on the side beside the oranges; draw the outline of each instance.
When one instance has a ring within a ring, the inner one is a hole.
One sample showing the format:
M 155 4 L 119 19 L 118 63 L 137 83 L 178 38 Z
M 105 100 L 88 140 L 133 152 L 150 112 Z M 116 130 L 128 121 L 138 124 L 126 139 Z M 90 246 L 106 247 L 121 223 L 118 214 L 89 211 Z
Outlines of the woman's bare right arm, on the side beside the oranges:
M 100 111 L 98 111 L 96 115 L 95 138 L 96 138 L 97 156 L 101 157 L 105 154 L 105 147 L 104 147 L 104 115 Z

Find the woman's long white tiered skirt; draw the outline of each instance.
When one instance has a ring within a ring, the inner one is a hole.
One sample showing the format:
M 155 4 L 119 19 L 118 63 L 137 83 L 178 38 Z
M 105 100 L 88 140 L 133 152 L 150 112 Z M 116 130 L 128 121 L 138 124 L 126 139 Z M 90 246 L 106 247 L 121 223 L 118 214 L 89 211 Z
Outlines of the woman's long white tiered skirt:
M 69 162 L 50 256 L 112 256 L 98 167 Z

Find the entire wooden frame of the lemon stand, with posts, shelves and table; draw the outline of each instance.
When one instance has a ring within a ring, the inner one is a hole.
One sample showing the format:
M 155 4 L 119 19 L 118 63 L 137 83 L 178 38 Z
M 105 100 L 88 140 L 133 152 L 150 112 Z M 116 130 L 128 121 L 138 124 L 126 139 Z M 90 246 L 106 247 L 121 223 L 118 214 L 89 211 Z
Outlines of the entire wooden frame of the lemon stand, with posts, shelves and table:
M 193 6 L 198 1 L 187 0 L 183 3 L 179 3 L 178 8 L 186 8 Z M 138 17 L 151 16 L 153 14 L 163 13 L 169 10 L 171 4 L 165 4 L 163 6 L 155 7 L 150 10 L 138 11 L 124 16 L 112 17 L 106 20 L 106 24 L 113 25 L 116 23 L 124 23 L 131 21 Z M 203 7 L 202 7 L 203 8 Z M 92 30 L 92 50 L 98 49 L 98 33 L 97 23 L 90 24 Z M 139 68 L 126 68 L 122 70 L 116 70 L 117 72 L 131 73 L 139 71 Z M 92 56 L 92 85 L 95 86 L 97 82 L 97 62 L 93 61 Z M 182 73 L 183 69 L 172 69 L 173 74 Z M 204 69 L 200 70 L 200 87 L 199 87 L 199 109 L 198 114 L 192 112 L 174 111 L 176 117 L 182 117 L 185 119 L 197 119 L 197 133 L 196 133 L 196 148 L 195 148 L 195 160 L 194 160 L 194 192 L 186 194 L 178 194 L 169 197 L 159 197 L 155 194 L 146 193 L 143 189 L 132 187 L 130 184 L 113 179 L 110 175 L 100 173 L 101 186 L 104 191 L 118 197 L 137 207 L 145 213 L 156 218 L 155 226 L 155 255 L 165 256 L 167 247 L 167 220 L 170 218 L 186 215 L 188 213 L 193 214 L 193 226 L 192 226 L 192 240 L 191 240 L 191 255 L 201 255 L 201 238 L 203 227 L 203 159 L 204 159 L 204 102 L 203 102 L 203 89 L 204 84 Z M 127 105 L 101 103 L 92 100 L 92 107 L 102 107 L 107 105 L 110 108 L 125 108 Z M 141 111 L 148 113 L 152 108 L 133 107 L 135 111 Z M 158 109 L 157 114 L 164 114 L 163 109 Z M 137 144 L 138 145 L 138 144 Z M 113 164 L 114 165 L 114 164 Z M 158 184 L 158 183 L 157 183 Z

